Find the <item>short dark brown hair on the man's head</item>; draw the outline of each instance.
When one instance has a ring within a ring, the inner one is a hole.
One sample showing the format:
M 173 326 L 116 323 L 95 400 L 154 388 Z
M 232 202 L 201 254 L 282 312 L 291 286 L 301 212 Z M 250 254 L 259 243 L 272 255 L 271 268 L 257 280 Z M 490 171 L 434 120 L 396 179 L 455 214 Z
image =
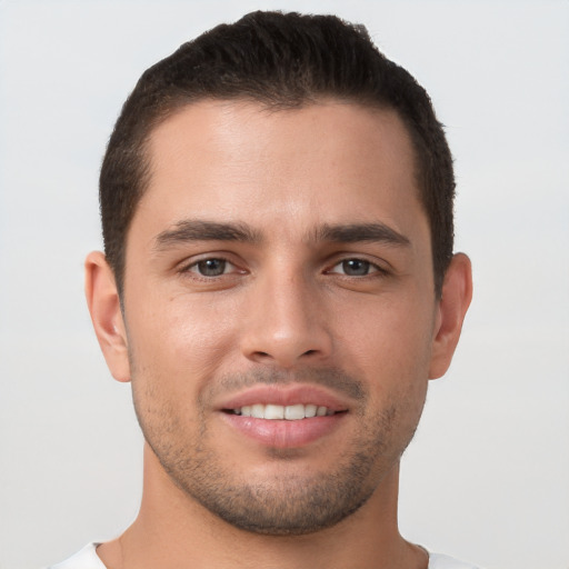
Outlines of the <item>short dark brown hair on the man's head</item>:
M 122 295 L 127 233 L 149 180 L 147 142 L 182 106 L 247 99 L 288 109 L 322 98 L 398 112 L 417 158 L 430 223 L 436 293 L 452 258 L 455 174 L 425 89 L 373 46 L 366 28 L 335 16 L 252 12 L 182 44 L 149 68 L 122 107 L 100 176 L 104 251 Z

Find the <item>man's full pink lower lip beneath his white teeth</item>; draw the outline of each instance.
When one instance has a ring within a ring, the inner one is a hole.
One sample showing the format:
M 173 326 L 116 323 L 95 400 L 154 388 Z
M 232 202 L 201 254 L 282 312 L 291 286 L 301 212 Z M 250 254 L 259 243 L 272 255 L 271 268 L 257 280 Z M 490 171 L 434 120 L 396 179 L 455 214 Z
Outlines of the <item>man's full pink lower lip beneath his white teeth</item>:
M 240 433 L 267 447 L 284 449 L 305 447 L 330 435 L 346 415 L 336 413 L 328 417 L 312 417 L 297 421 L 256 419 L 253 417 L 230 413 L 223 413 L 223 418 Z

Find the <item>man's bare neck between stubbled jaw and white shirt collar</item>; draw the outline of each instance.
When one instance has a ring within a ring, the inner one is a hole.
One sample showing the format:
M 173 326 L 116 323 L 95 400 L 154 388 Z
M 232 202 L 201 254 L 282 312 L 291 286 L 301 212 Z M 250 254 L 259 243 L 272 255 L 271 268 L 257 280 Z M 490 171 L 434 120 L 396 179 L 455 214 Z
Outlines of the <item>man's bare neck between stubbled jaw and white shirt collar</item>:
M 367 503 L 332 528 L 306 536 L 261 536 L 234 528 L 197 503 L 147 446 L 139 516 L 97 552 L 109 569 L 426 569 L 426 553 L 399 533 L 398 481 L 396 466 Z

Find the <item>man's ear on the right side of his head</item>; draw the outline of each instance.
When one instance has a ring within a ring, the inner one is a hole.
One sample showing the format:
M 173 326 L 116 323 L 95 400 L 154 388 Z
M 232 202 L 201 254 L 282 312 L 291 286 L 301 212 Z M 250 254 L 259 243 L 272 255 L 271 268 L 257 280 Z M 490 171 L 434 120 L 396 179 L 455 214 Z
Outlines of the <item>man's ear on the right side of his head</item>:
M 445 274 L 437 308 L 429 379 L 440 378 L 449 369 L 471 299 L 470 259 L 463 253 L 457 253 Z

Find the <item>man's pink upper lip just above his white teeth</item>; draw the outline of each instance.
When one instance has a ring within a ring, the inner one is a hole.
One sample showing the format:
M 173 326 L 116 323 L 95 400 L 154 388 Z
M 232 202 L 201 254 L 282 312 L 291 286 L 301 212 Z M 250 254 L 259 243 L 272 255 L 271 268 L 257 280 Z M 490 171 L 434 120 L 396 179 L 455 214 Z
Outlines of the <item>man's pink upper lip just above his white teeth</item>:
M 251 405 L 316 405 L 327 407 L 332 411 L 347 411 L 348 405 L 321 386 L 289 385 L 267 386 L 259 385 L 248 388 L 224 400 L 220 409 L 240 409 Z

